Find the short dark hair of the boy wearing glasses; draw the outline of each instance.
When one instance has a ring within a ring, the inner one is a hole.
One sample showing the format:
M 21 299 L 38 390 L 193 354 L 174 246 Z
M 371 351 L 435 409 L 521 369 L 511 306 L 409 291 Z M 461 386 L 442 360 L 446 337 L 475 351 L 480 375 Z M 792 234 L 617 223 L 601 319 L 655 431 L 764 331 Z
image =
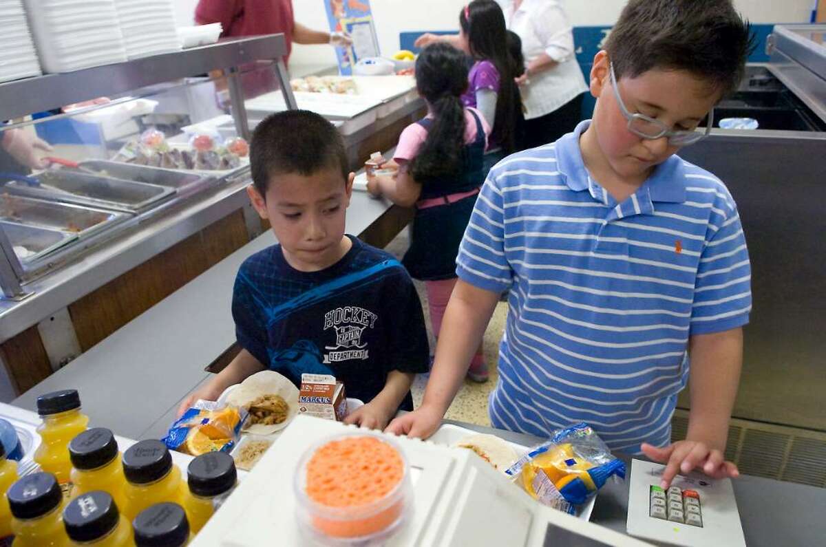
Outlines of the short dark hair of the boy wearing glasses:
M 731 0 L 630 0 L 605 50 L 617 78 L 685 70 L 722 98 L 738 88 L 755 45 Z

